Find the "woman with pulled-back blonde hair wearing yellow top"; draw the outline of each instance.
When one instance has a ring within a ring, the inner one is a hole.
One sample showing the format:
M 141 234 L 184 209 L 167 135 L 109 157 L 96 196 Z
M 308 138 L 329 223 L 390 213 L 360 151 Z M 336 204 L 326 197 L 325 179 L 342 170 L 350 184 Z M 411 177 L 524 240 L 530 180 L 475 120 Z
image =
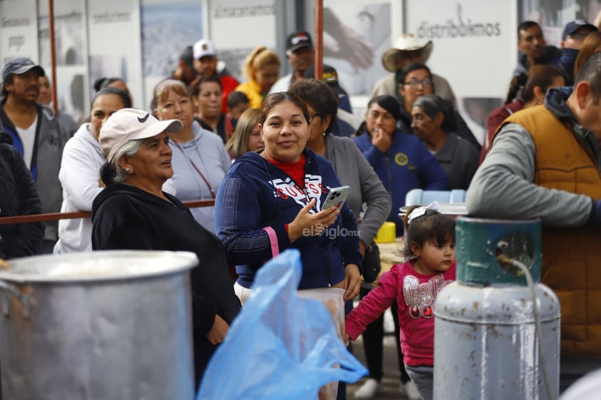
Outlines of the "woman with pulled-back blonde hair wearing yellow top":
M 269 89 L 280 77 L 280 66 L 278 54 L 265 46 L 255 48 L 246 56 L 243 75 L 248 77 L 248 82 L 238 85 L 236 91 L 246 94 L 251 108 L 261 108 Z

